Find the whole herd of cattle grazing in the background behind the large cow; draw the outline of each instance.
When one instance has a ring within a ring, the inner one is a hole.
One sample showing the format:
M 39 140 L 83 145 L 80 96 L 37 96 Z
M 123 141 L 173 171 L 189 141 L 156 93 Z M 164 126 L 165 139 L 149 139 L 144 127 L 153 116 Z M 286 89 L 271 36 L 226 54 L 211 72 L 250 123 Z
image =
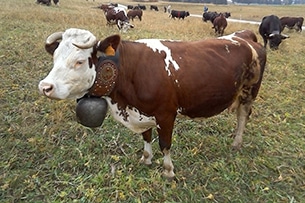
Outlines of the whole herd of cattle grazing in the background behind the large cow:
M 59 0 L 53 0 L 54 4 L 57 5 Z M 51 0 L 37 0 L 38 4 L 50 5 Z M 110 3 L 102 4 L 97 8 L 104 11 L 107 25 L 117 25 L 118 29 L 122 32 L 127 32 L 128 29 L 134 28 L 135 26 L 130 23 L 135 18 L 142 21 L 143 12 L 146 10 L 146 5 L 127 5 Z M 150 10 L 159 11 L 158 6 L 150 5 Z M 189 11 L 172 10 L 171 6 L 164 6 L 164 12 L 169 13 L 169 17 L 172 19 L 183 19 L 190 16 Z M 222 36 L 228 25 L 227 18 L 231 16 L 230 12 L 211 12 L 205 10 L 202 14 L 202 20 L 204 22 L 210 21 L 213 24 L 212 29 L 218 36 Z M 259 26 L 259 33 L 264 40 L 264 46 L 266 47 L 267 42 L 271 49 L 277 49 L 283 39 L 288 38 L 287 35 L 281 32 L 284 28 L 295 29 L 296 31 L 302 31 L 304 18 L 303 17 L 282 17 L 279 18 L 275 15 L 265 16 Z

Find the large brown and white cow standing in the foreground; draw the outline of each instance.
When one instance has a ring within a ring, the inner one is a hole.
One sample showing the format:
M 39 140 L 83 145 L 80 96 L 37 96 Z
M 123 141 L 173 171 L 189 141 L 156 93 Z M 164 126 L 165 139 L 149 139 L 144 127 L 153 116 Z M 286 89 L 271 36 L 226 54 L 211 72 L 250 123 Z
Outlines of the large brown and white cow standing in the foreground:
M 248 34 L 247 34 L 248 33 Z M 51 34 L 45 48 L 54 66 L 39 83 L 51 99 L 104 97 L 113 117 L 142 133 L 141 161 L 151 164 L 152 128 L 164 154 L 164 176 L 172 178 L 170 148 L 177 115 L 211 117 L 225 109 L 237 111 L 233 148 L 242 135 L 263 77 L 266 51 L 251 31 L 201 41 L 142 39 L 123 41 L 119 35 L 102 40 L 87 30 L 71 28 Z M 215 54 L 216 53 L 216 54 Z M 112 59 L 115 77 L 107 86 L 98 56 Z M 118 65 L 116 65 L 118 64 Z

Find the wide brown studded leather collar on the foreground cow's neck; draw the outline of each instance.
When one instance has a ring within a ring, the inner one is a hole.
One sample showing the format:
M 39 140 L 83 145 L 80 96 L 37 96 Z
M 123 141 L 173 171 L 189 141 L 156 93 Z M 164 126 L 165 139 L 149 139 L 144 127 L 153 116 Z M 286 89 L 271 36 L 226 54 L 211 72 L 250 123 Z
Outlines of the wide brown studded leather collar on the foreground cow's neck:
M 96 77 L 88 95 L 108 96 L 115 86 L 119 73 L 119 51 L 116 51 L 114 56 L 100 56 L 95 67 Z

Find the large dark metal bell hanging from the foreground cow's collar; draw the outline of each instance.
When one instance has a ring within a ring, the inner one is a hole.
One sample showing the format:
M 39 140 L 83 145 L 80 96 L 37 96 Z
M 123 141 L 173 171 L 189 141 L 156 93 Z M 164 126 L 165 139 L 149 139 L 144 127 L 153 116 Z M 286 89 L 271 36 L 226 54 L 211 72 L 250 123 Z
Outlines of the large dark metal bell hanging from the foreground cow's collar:
M 107 102 L 103 98 L 82 98 L 76 106 L 77 121 L 86 127 L 99 127 L 106 117 L 107 109 Z

